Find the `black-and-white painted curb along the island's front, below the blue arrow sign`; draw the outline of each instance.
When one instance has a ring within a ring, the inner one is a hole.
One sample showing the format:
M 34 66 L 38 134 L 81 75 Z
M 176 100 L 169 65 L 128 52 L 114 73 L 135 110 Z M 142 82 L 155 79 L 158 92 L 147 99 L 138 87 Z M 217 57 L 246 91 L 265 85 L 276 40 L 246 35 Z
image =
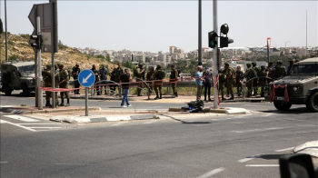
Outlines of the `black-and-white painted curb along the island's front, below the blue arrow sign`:
M 59 115 L 54 116 L 50 121 L 62 122 L 62 123 L 101 123 L 108 121 L 130 121 L 130 120 L 146 120 L 146 119 L 159 119 L 159 116 L 155 114 L 143 114 L 143 115 L 120 115 L 120 116 L 101 116 L 101 115 Z

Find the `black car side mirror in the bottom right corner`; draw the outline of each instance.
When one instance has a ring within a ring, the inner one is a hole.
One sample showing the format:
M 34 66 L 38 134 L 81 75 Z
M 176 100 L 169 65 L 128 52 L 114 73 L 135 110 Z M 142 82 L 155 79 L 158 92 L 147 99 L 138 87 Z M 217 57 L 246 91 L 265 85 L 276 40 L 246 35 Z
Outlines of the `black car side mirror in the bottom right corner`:
M 316 178 L 312 157 L 309 154 L 287 154 L 279 159 L 282 178 Z

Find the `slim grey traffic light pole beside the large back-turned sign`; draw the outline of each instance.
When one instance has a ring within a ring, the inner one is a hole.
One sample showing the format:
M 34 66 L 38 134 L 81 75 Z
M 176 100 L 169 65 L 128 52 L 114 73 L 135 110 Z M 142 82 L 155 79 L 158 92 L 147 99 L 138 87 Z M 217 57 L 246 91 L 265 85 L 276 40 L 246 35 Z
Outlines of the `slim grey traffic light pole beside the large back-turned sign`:
M 37 35 L 41 35 L 41 26 L 40 26 L 40 17 L 37 16 L 36 17 L 36 28 L 37 28 Z M 39 41 L 41 41 L 41 38 L 38 39 Z M 41 81 L 42 81 L 42 64 L 41 64 L 41 44 L 38 46 L 38 53 L 37 53 L 37 78 L 36 78 L 36 86 L 37 87 L 37 103 L 38 103 L 38 109 L 39 110 L 43 110 L 43 91 L 39 88 L 41 85 Z

